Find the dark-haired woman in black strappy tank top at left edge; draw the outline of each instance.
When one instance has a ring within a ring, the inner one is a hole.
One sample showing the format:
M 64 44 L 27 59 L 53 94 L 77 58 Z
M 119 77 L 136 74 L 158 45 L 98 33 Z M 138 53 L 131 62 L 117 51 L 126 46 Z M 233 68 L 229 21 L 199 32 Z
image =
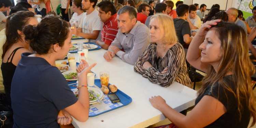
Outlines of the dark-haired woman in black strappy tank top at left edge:
M 17 24 L 18 23 L 18 24 Z M 6 103 L 11 105 L 11 83 L 16 66 L 21 58 L 21 54 L 32 52 L 29 43 L 25 41 L 22 29 L 25 25 L 36 26 L 38 24 L 34 13 L 29 11 L 19 11 L 8 17 L 6 22 L 6 41 L 3 45 L 2 65 L 3 85 L 6 94 Z

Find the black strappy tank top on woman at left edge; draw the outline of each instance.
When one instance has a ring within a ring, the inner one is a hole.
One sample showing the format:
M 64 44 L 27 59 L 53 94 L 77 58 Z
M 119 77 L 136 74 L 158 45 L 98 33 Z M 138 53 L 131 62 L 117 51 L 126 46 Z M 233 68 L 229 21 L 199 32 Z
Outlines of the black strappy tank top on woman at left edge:
M 11 105 L 11 84 L 12 84 L 12 77 L 16 69 L 16 66 L 13 65 L 12 63 L 12 59 L 14 54 L 19 48 L 24 48 L 24 47 L 18 47 L 14 49 L 11 55 L 9 56 L 7 62 L 6 63 L 2 62 L 2 65 L 1 65 L 1 70 L 3 74 L 3 85 L 4 85 L 5 94 L 6 94 L 6 103 L 8 105 Z M 11 56 L 12 56 L 11 61 L 8 62 Z

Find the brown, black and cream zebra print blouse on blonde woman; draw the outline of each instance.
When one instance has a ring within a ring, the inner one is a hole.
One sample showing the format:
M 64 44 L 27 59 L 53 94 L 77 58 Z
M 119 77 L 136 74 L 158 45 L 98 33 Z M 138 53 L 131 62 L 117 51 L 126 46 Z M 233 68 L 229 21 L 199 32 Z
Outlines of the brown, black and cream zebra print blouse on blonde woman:
M 185 51 L 180 43 L 172 46 L 164 57 L 157 58 L 157 44 L 150 43 L 134 65 L 134 71 L 142 74 L 150 82 L 163 87 L 170 86 L 174 81 L 193 88 L 187 73 Z M 148 61 L 153 67 L 143 68 Z M 168 67 L 165 74 L 161 72 Z

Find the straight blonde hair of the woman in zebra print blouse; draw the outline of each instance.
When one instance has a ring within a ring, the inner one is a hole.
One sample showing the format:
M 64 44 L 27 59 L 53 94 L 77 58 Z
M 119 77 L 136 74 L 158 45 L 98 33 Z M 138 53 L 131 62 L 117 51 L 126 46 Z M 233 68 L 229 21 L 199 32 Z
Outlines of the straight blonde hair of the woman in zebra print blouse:
M 163 27 L 163 30 L 165 31 L 165 39 L 166 43 L 172 44 L 178 41 L 176 32 L 175 32 L 175 27 L 173 23 L 173 19 L 162 13 L 158 13 L 153 15 L 150 20 L 153 18 L 156 18 L 158 20 L 159 27 Z

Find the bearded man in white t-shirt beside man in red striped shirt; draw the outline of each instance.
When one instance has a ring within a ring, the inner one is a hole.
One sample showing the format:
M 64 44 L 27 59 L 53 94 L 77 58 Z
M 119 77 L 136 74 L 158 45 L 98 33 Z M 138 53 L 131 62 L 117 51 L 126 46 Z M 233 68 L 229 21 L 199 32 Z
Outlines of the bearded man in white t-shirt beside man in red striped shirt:
M 82 9 L 86 12 L 81 18 L 81 23 L 78 29 L 71 29 L 72 34 L 89 39 L 89 42 L 101 40 L 100 31 L 102 30 L 103 23 L 100 21 L 100 17 L 98 16 L 99 11 L 94 9 L 97 1 L 98 0 L 82 1 Z

